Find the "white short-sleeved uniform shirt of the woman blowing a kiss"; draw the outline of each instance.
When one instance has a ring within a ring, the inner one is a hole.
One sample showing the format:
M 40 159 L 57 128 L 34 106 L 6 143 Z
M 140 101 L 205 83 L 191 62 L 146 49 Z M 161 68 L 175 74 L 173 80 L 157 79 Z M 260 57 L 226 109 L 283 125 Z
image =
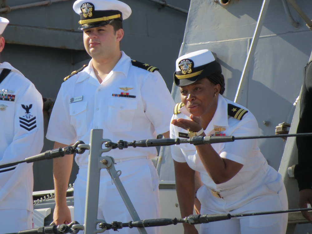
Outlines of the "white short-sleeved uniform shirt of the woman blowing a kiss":
M 215 128 L 224 128 L 221 134 L 226 136 L 255 136 L 258 135 L 258 124 L 255 117 L 248 111 L 241 120 L 235 119 L 227 115 L 227 104 L 238 106 L 246 110 L 246 108 L 227 100 L 219 94 L 217 110 L 210 121 L 207 129 L 204 130 L 207 136 L 214 135 L 217 130 Z M 188 112 L 185 107 L 184 111 Z M 187 115 L 180 113 L 173 115 L 172 119 L 190 119 Z M 185 129 L 170 125 L 170 137 L 179 138 L 179 132 L 187 135 Z M 241 170 L 229 181 L 221 184 L 215 184 L 205 170 L 193 144 L 179 144 L 171 147 L 172 157 L 177 162 L 187 162 L 189 167 L 200 173 L 202 183 L 210 189 L 223 191 L 235 188 L 247 183 L 251 178 L 261 176 L 266 173 L 268 164 L 261 154 L 257 146 L 256 139 L 236 140 L 234 142 L 212 144 L 213 149 L 222 158 L 228 158 L 232 161 L 243 164 Z

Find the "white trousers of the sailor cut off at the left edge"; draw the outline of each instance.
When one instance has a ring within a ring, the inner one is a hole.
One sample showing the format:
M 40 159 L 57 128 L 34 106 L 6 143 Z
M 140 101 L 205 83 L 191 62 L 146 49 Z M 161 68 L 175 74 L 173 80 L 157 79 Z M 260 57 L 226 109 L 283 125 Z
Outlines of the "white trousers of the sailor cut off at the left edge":
M 0 209 L 0 233 L 32 229 L 32 212 L 25 209 Z

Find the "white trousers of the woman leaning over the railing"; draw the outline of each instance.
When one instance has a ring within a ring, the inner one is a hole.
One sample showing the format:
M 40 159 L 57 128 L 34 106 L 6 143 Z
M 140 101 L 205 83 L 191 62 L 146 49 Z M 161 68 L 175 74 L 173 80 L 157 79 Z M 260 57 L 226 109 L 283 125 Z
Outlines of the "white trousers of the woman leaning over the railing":
M 243 214 L 287 210 L 287 194 L 280 174 L 269 167 L 268 173 L 258 183 L 240 192 L 214 197 L 210 190 L 202 186 L 197 191 L 201 201 L 201 214 Z M 285 234 L 288 214 L 257 215 L 231 218 L 224 221 L 201 224 L 200 234 L 231 233 L 231 234 Z

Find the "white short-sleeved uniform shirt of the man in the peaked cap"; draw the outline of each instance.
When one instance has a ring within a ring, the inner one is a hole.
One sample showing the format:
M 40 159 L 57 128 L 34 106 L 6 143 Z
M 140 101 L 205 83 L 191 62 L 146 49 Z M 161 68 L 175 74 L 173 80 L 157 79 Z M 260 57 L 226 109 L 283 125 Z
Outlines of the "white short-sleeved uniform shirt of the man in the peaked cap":
M 66 80 L 57 95 L 46 137 L 62 144 L 76 140 L 90 143 L 90 130 L 103 129 L 103 138 L 118 140 L 155 139 L 169 130 L 174 101 L 158 71 L 150 72 L 132 66 L 123 51 L 113 70 L 100 84 L 92 60 L 82 71 Z M 130 88 L 128 91 L 122 88 Z M 113 96 L 129 93 L 135 97 Z M 70 103 L 71 98 L 82 100 Z M 79 99 L 79 98 L 78 98 Z M 157 134 L 156 134 L 157 133 Z M 79 166 L 88 163 L 88 153 L 76 154 Z M 157 155 L 154 147 L 113 149 L 107 155 L 115 158 Z

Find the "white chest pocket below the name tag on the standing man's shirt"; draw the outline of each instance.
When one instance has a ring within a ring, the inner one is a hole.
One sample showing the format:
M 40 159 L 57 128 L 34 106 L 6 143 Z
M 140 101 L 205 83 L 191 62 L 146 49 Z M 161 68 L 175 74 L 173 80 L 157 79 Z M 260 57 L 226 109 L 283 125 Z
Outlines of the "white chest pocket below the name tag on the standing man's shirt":
M 75 127 L 77 136 L 87 132 L 87 102 L 75 102 L 69 105 L 71 124 Z

